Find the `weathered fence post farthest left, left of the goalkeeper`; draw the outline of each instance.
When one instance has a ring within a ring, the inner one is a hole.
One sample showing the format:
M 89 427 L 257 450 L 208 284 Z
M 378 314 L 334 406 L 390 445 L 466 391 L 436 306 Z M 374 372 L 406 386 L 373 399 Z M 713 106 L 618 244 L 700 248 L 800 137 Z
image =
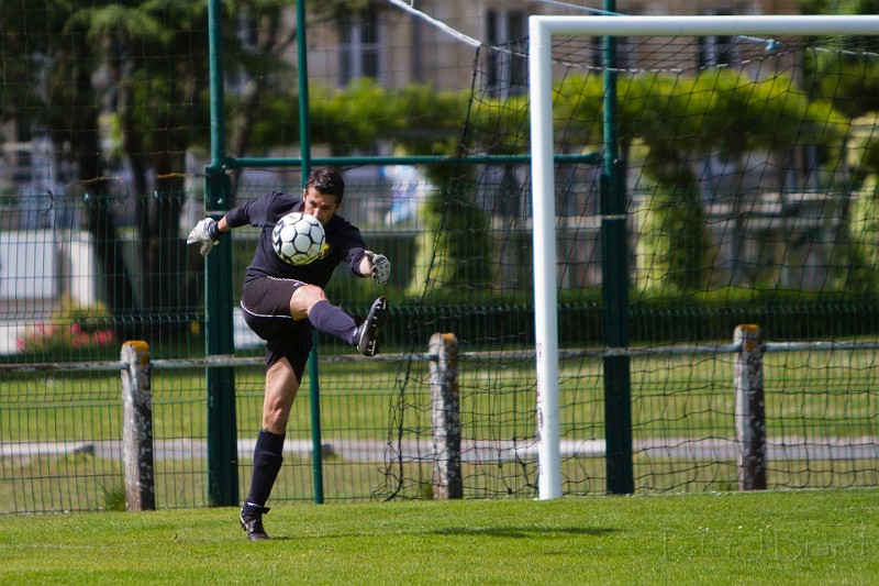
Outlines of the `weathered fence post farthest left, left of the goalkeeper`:
M 149 345 L 122 344 L 122 457 L 125 466 L 125 510 L 156 509 L 153 479 L 153 397 Z

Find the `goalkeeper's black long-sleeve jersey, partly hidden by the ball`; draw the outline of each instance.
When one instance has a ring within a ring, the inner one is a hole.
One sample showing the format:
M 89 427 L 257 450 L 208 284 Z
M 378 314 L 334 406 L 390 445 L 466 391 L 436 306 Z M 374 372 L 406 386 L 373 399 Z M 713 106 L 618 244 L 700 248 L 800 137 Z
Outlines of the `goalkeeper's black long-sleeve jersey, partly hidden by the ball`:
M 360 274 L 357 267 L 364 257 L 366 243 L 357 226 L 341 215 L 333 215 L 323 226 L 327 247 L 320 258 L 308 265 L 293 266 L 278 257 L 271 246 L 271 231 L 275 224 L 283 215 L 302 211 L 303 208 L 304 202 L 301 197 L 271 191 L 226 212 L 226 223 L 230 228 L 251 224 L 263 230 L 254 257 L 247 266 L 245 285 L 256 278 L 276 277 L 301 280 L 324 288 L 342 262 L 348 265 L 355 275 Z

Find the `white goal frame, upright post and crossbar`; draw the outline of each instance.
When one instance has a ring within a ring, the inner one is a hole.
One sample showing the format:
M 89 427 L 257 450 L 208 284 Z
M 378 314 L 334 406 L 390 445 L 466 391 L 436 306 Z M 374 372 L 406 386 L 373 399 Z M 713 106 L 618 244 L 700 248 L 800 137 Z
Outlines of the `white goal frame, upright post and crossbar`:
M 541 500 L 561 496 L 556 213 L 553 167 L 553 36 L 831 34 L 879 34 L 879 16 L 531 16 L 528 19 L 537 453 Z

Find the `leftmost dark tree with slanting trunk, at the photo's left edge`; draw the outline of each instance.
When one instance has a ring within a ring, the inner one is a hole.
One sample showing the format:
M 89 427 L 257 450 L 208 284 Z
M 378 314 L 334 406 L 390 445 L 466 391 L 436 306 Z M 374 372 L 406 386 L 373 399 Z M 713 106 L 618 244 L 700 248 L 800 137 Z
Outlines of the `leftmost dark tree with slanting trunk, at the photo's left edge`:
M 46 133 L 56 145 L 69 145 L 80 178 L 75 191 L 85 201 L 99 265 L 120 285 L 108 287 L 104 298 L 111 311 L 123 312 L 132 305 L 132 289 L 115 245 L 115 208 L 101 158 L 100 91 L 93 81 L 100 62 L 67 2 L 3 1 L 0 14 L 3 55 L 11 68 L 7 82 L 14 88 L 0 97 L 3 121 L 15 123 L 25 139 Z

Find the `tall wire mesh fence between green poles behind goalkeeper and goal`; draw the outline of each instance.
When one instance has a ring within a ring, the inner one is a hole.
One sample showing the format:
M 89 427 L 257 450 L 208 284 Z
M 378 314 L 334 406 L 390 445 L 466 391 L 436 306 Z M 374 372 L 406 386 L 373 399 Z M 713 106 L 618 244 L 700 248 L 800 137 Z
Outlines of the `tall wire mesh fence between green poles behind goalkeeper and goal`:
M 15 80 L 0 92 L 9 118 L 0 129 L 0 512 L 124 506 L 118 362 L 129 340 L 147 342 L 154 362 L 156 506 L 212 504 L 204 259 L 185 244 L 204 213 L 212 130 L 202 4 L 179 3 L 174 18 L 123 7 L 167 34 L 118 35 L 124 46 L 112 53 L 90 38 L 118 3 L 93 2 L 77 18 L 60 4 L 21 4 L 0 23 Z M 298 71 L 285 44 L 292 31 L 249 34 L 263 18 L 289 22 L 292 8 L 222 14 L 230 204 L 301 190 Z M 403 41 L 418 36 L 402 34 L 413 31 L 409 16 L 370 10 L 393 24 L 382 30 L 401 33 L 382 40 L 383 55 L 419 54 Z M 332 26 L 310 36 L 313 154 L 343 170 L 342 214 L 392 270 L 377 288 L 340 267 L 327 288 L 359 316 L 386 295 L 391 320 L 377 360 L 319 338 L 325 499 L 439 496 L 429 351 L 437 332 L 458 343 L 464 497 L 532 498 L 526 40 L 421 46 L 421 82 L 409 84 L 412 64 L 378 80 L 346 78 L 351 69 L 333 64 L 352 62 L 331 42 Z M 767 344 L 769 488 L 874 486 L 879 169 L 865 96 L 876 93 L 875 52 L 849 37 L 735 37 L 705 53 L 709 41 L 624 41 L 617 51 L 630 288 L 628 331 L 615 332 L 628 347 L 614 356 L 630 363 L 634 490 L 738 486 L 731 344 L 741 324 L 759 325 Z M 603 396 L 604 76 L 596 40 L 553 51 L 563 490 L 600 495 L 613 423 Z M 230 283 L 219 285 L 231 295 L 234 360 L 249 361 L 234 366 L 238 494 L 264 394 L 264 349 L 237 309 L 254 239 L 242 228 L 220 244 L 232 257 Z M 272 501 L 314 500 L 311 400 L 297 398 Z

